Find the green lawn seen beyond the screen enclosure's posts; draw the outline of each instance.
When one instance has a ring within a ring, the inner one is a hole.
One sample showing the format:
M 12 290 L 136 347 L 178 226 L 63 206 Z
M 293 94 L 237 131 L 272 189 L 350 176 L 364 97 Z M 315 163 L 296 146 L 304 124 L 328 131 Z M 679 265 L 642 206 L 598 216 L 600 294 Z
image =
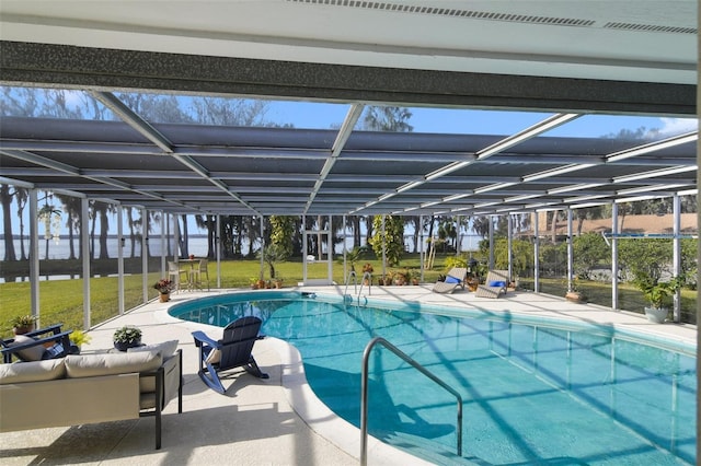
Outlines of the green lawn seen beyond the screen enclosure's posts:
M 433 270 L 424 271 L 424 282 L 433 283 L 439 273 L 445 273 L 446 256 L 436 258 Z M 377 259 L 361 259 L 356 264 L 358 280 L 361 276 L 363 264 L 370 263 L 375 268 L 374 277 L 382 275 L 382 266 Z M 407 255 L 402 259 L 400 267 L 388 268 L 391 271 L 404 271 L 409 269 L 413 277 L 418 277 L 421 259 L 418 255 Z M 221 261 L 220 279 L 221 288 L 250 288 L 251 281 L 258 278 L 261 269 L 260 260 L 226 260 Z M 296 286 L 302 281 L 301 259 L 285 261 L 275 266 L 276 277 L 283 278 L 284 287 Z M 327 265 L 324 263 L 308 264 L 307 276 L 310 279 L 326 277 Z M 209 264 L 209 283 L 211 288 L 217 286 L 217 264 Z M 344 283 L 343 264 L 334 261 L 333 280 Z M 153 283 L 161 278 L 160 273 L 149 273 L 147 281 L 147 300 L 158 296 Z M 267 267 L 264 269 L 264 278 L 269 278 Z M 145 302 L 142 296 L 142 276 L 139 273 L 125 276 L 125 310 L 133 308 Z M 532 289 L 532 281 L 521 279 L 525 288 Z M 116 316 L 118 310 L 118 282 L 116 277 L 94 277 L 90 279 L 90 321 L 91 325 L 104 322 Z M 611 286 L 602 282 L 581 283 L 582 291 L 590 303 L 610 306 Z M 565 288 L 561 279 L 541 279 L 543 293 L 564 296 Z M 621 308 L 641 312 L 645 305 L 642 293 L 624 283 L 619 286 L 619 303 Z M 682 290 L 681 310 L 682 321 L 696 323 L 697 293 L 693 290 Z M 9 321 L 18 315 L 31 314 L 31 295 L 28 281 L 10 282 L 0 284 L 0 336 L 12 335 Z M 49 280 L 39 282 L 39 325 L 46 326 L 62 323 L 65 328 L 83 328 L 83 281 L 82 280 Z

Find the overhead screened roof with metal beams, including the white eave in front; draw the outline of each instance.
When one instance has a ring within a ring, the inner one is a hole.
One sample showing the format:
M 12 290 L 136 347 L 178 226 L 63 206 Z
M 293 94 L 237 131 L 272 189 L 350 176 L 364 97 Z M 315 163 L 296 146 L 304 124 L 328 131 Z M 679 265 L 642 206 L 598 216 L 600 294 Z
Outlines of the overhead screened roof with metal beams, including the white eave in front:
M 264 215 L 696 194 L 696 2 L 187 3 L 2 2 L 3 90 L 71 112 L 5 107 L 0 180 Z

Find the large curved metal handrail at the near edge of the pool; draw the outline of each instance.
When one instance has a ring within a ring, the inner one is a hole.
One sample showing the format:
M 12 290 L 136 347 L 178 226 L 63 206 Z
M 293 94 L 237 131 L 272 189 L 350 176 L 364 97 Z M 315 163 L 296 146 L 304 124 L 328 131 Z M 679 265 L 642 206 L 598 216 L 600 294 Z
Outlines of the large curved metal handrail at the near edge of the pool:
M 404 362 L 412 365 L 418 372 L 440 385 L 451 395 L 453 395 L 458 400 L 458 419 L 456 426 L 456 432 L 458 438 L 458 456 L 462 456 L 462 397 L 460 394 L 452 388 L 450 385 L 445 383 L 443 380 L 438 378 L 434 373 L 428 371 L 426 368 L 416 362 L 409 354 L 397 348 L 394 345 L 390 343 L 382 337 L 375 337 L 367 347 L 365 347 L 365 351 L 363 352 L 363 372 L 361 372 L 361 384 L 360 384 L 360 465 L 366 466 L 368 464 L 368 364 L 370 360 L 370 352 L 376 345 L 382 345 L 384 348 L 392 351 L 399 358 L 404 360 Z

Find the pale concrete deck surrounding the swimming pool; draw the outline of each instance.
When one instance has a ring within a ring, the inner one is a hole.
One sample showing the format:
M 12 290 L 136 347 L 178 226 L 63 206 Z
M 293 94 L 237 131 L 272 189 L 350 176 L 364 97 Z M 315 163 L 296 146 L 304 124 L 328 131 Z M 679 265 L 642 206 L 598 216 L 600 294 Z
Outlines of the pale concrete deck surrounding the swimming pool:
M 420 287 L 372 287 L 370 296 L 478 308 L 491 314 L 524 314 L 612 325 L 696 346 L 691 325 L 651 324 L 644 316 L 612 312 L 605 307 L 570 303 L 564 299 L 532 292 L 509 292 L 499 299 L 474 293 L 432 293 L 433 284 Z M 290 288 L 286 289 L 290 290 Z M 256 342 L 254 354 L 271 375 L 258 380 L 238 373 L 225 385 L 226 395 L 205 387 L 197 376 L 197 351 L 191 333 L 210 326 L 176 321 L 170 305 L 230 291 L 174 293 L 170 303 L 150 302 L 90 330 L 92 341 L 83 352 L 112 347 L 112 333 L 123 325 L 143 330 L 147 343 L 171 339 L 183 350 L 183 413 L 171 403 L 163 416 L 163 446 L 153 450 L 153 419 L 106 422 L 71 428 L 37 429 L 0 433 L 0 463 L 104 464 L 104 465 L 352 465 L 358 463 L 359 432 L 336 418 L 306 384 L 296 350 L 267 338 Z M 303 291 L 342 294 L 344 287 L 304 287 Z M 220 330 L 220 329 L 219 329 Z M 358 364 L 360 361 L 358 361 Z M 57 400 L 60 403 L 60 400 Z M 424 462 L 380 442 L 368 446 L 369 464 L 417 465 Z

